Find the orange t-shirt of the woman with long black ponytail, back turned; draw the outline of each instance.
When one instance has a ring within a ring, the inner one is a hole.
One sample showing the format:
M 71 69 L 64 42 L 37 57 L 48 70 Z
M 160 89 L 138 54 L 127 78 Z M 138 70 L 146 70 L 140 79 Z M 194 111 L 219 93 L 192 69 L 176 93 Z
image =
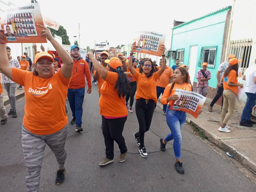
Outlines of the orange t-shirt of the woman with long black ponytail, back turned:
M 117 79 L 117 73 L 108 71 L 107 78 L 100 90 L 100 114 L 105 117 L 123 117 L 128 115 L 125 99 L 122 96 L 119 98 L 117 90 L 114 90 Z

